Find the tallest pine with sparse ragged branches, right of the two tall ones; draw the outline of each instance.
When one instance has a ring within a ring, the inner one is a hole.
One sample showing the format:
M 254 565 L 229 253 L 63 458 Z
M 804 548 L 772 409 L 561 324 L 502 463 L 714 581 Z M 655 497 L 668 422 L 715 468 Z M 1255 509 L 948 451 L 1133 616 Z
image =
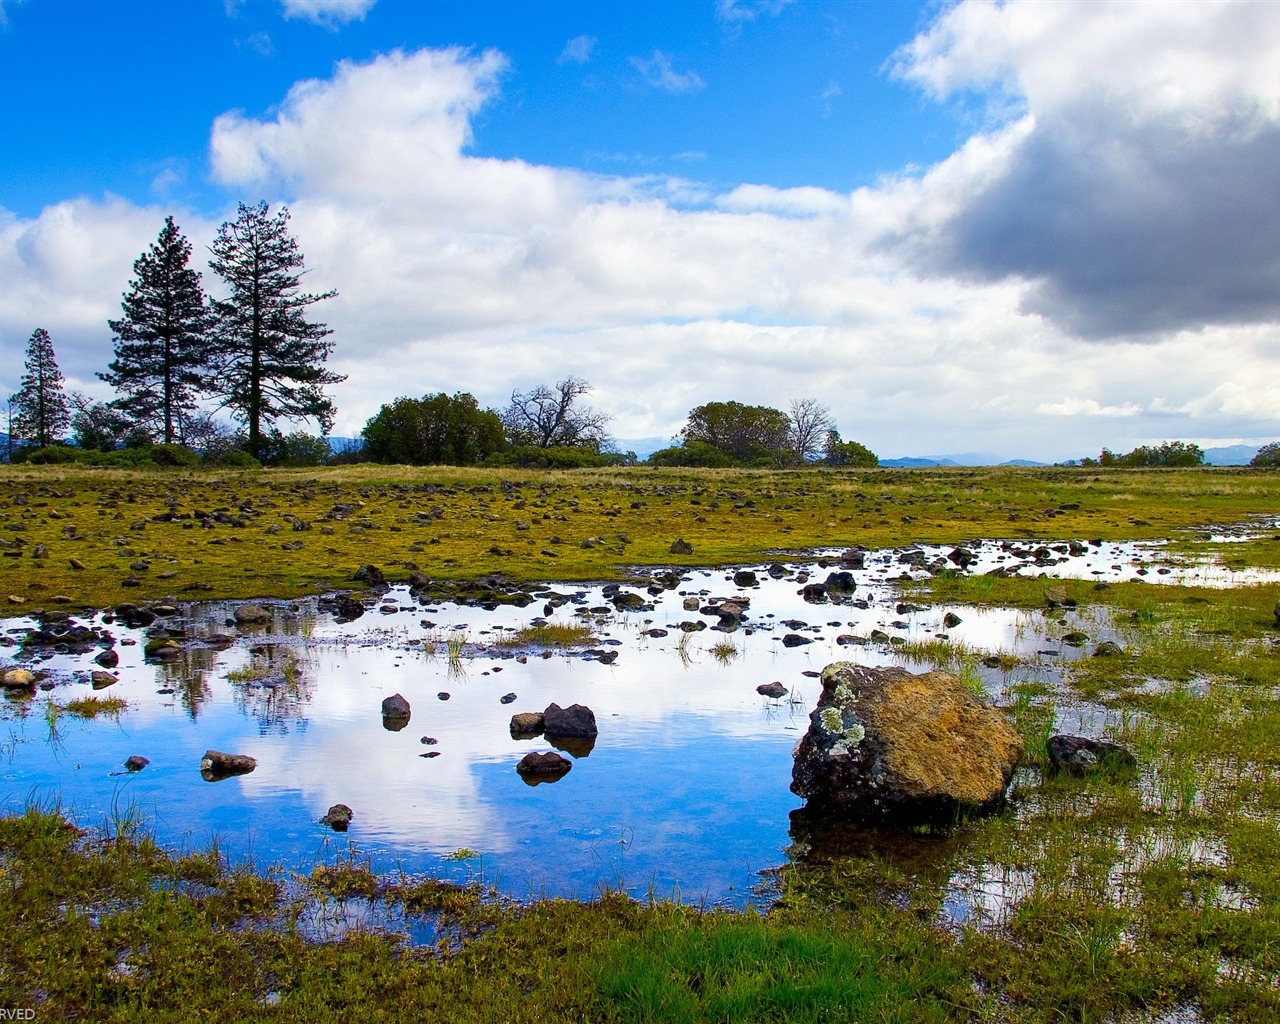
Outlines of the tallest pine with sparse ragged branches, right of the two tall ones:
M 346 380 L 324 369 L 333 352 L 325 338 L 333 332 L 306 319 L 308 306 L 337 292 L 298 291 L 303 260 L 288 224 L 288 209 L 271 216 L 265 202 L 241 204 L 210 247 L 209 265 L 230 289 L 225 301 L 214 302 L 218 390 L 223 406 L 248 426 L 255 457 L 264 428 L 282 416 L 314 417 L 326 433 L 335 410 L 324 387 Z

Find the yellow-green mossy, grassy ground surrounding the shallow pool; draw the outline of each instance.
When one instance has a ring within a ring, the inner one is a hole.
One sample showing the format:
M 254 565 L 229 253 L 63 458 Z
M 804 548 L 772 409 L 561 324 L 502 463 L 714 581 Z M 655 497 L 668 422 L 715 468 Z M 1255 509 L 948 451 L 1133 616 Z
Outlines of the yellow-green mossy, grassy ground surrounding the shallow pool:
M 819 545 L 1193 545 L 1180 530 L 1274 515 L 1277 498 L 1280 475 L 1233 471 L 27 471 L 0 481 L 0 527 L 23 527 L 0 535 L 26 541 L 3 559 L 26 611 L 52 595 L 101 604 L 192 586 L 285 596 L 352 585 L 366 562 L 570 580 Z M 243 525 L 196 516 L 218 509 Z M 691 556 L 669 553 L 677 536 Z M 1276 547 L 1229 557 L 1270 566 Z M 129 576 L 138 586 L 122 589 Z M 1030 609 L 1044 586 L 940 579 L 913 599 Z M 0 1007 L 122 1021 L 1280 1019 L 1277 594 L 1065 586 L 1107 608 L 1120 650 L 1074 662 L 1061 687 L 1023 685 L 1006 666 L 1029 750 L 1009 809 L 933 833 L 800 823 L 764 915 L 620 896 L 509 906 L 348 863 L 253 872 L 215 850 L 160 850 L 137 822 L 84 832 L 32 808 L 0 819 Z M 1071 701 L 1110 716 L 1137 772 L 1047 771 L 1044 737 Z M 342 900 L 436 922 L 442 941 L 360 929 L 315 941 L 303 924 Z

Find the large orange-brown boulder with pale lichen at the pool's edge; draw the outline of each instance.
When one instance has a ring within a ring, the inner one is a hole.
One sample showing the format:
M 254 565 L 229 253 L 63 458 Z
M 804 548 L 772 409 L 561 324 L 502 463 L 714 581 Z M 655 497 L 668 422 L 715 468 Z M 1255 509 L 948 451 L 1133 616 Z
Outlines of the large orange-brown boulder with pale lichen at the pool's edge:
M 952 820 L 997 808 L 1023 754 L 1009 719 L 946 672 L 836 662 L 796 744 L 791 791 L 868 820 Z

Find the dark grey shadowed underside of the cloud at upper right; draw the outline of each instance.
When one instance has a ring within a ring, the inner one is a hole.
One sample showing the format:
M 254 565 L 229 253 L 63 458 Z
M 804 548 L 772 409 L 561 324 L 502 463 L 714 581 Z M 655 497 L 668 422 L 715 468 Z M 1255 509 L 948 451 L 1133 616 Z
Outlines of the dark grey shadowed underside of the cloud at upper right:
M 1024 311 L 1093 339 L 1276 320 L 1280 127 L 1082 120 L 1038 119 L 920 262 L 1033 280 Z

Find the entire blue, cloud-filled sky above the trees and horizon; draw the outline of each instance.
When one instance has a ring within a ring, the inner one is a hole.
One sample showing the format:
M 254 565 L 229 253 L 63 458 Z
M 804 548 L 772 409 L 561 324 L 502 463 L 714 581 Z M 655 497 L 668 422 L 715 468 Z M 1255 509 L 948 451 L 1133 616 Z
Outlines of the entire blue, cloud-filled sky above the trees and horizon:
M 0 389 L 173 215 L 287 205 L 334 433 L 575 375 L 618 438 L 1280 438 L 1280 4 L 0 0 Z M 285 428 L 292 425 L 285 424 Z M 314 429 L 314 425 L 312 425 Z

